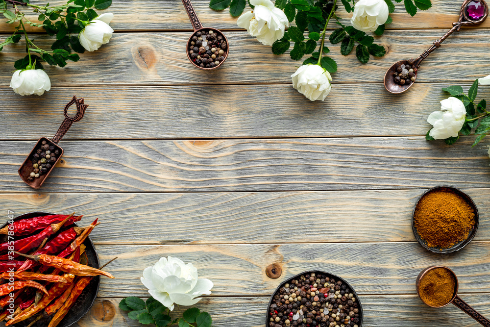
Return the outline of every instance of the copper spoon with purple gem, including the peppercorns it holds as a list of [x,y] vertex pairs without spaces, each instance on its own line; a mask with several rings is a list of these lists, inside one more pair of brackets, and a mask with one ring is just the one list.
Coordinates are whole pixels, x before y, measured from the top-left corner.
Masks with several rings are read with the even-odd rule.
[[[441,43],[449,37],[453,32],[459,31],[463,25],[477,25],[483,23],[489,15],[489,6],[485,0],[465,0],[461,6],[459,21],[453,23],[451,28],[444,36],[439,40],[434,41],[432,46],[425,50],[417,59],[400,60],[394,63],[386,72],[384,78],[385,88],[388,92],[393,94],[399,94],[407,91],[412,85],[414,85],[417,79],[418,68],[422,60],[427,58],[434,50],[441,47]],[[412,68],[415,72],[413,76],[403,74],[403,65],[415,66]],[[409,79],[407,79],[407,77]],[[395,80],[396,78],[396,80]]]

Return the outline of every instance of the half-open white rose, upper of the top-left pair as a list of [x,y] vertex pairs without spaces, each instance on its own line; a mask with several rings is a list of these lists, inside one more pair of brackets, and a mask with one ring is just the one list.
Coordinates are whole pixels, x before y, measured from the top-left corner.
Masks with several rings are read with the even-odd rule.
[[78,34],[82,47],[87,51],[95,51],[103,44],[109,43],[114,32],[109,23],[113,19],[112,13],[105,13],[90,21]]

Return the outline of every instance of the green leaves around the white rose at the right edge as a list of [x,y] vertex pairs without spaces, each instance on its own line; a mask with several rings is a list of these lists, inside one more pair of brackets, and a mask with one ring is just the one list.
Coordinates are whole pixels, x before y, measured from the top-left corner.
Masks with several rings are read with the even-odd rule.
[[[466,116],[464,123],[462,124],[458,135],[451,136],[444,139],[444,142],[448,145],[454,144],[461,135],[470,135],[474,132],[476,139],[472,147],[476,146],[480,141],[490,133],[490,111],[487,110],[487,101],[482,99],[477,101],[478,84],[481,80],[476,80],[468,90],[466,94],[463,87],[459,85],[445,87],[442,90],[449,93],[452,98],[460,100],[466,110]],[[435,138],[430,136],[430,131],[426,135],[427,140],[434,140]]]

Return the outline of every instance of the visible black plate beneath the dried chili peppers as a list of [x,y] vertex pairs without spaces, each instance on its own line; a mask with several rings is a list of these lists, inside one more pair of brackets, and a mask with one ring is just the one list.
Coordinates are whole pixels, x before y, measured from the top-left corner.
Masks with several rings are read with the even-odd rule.
[[[39,216],[46,216],[46,215],[54,215],[53,213],[48,213],[48,212],[31,212],[31,213],[26,213],[24,215],[20,215],[14,220],[19,220],[19,219],[28,219],[28,218],[33,218],[33,217],[39,217]],[[8,222],[3,224],[0,228],[3,228],[7,226]],[[72,226],[77,226],[76,224],[73,224]],[[64,227],[65,228],[65,227]],[[27,237],[30,235],[25,235],[24,237]],[[0,236],[0,242],[3,243],[6,241],[6,235],[1,235]],[[98,261],[98,255],[97,252],[95,251],[94,243],[90,240],[90,237],[87,237],[85,242],[83,242],[85,245],[85,253],[87,254],[88,257],[88,265],[94,268],[99,268],[100,263]],[[70,308],[70,311],[68,311],[68,314],[63,318],[63,320],[58,324],[57,327],[68,327],[72,326],[76,322],[78,322],[90,309],[90,307],[94,304],[95,299],[97,298],[97,293],[98,293],[98,287],[100,285],[100,276],[95,276],[92,278],[92,281],[90,284],[85,288],[83,293],[78,297],[76,302],[73,304],[73,306]],[[39,321],[37,321],[33,327],[46,327],[49,325],[49,321],[51,320],[53,315],[43,317]],[[26,319],[25,321],[21,321],[20,323],[11,325],[13,327],[26,327],[29,325],[30,322],[32,322],[37,315],[34,317],[31,317],[29,319]],[[0,326],[5,326],[3,322],[0,322]]]

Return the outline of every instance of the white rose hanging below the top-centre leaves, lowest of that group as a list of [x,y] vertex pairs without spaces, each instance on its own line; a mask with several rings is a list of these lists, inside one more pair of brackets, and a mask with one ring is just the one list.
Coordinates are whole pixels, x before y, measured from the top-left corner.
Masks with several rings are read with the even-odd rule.
[[311,101],[324,101],[332,89],[332,76],[319,65],[303,65],[291,77],[293,87]]

